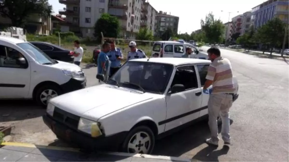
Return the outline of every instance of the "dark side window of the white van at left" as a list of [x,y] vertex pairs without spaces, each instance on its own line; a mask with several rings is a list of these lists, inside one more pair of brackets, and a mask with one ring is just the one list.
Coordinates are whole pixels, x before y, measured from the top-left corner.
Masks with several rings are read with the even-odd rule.
[[0,45],[0,67],[26,68],[19,63],[20,58],[25,59],[17,50]]

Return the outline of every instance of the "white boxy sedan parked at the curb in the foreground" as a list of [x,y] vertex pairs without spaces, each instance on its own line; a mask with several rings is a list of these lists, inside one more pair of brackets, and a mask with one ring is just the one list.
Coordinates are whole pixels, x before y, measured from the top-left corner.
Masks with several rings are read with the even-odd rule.
[[[105,84],[51,99],[43,120],[59,139],[81,148],[149,154],[156,139],[207,117],[209,95],[202,86],[210,63],[130,60]],[[236,78],[234,85],[235,101]]]

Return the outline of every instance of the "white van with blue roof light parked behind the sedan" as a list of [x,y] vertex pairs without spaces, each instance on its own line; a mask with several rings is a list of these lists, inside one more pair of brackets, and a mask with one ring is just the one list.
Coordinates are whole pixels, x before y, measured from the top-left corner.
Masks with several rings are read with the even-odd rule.
[[192,48],[192,58],[209,59],[208,54],[200,52],[194,45],[178,41],[158,41],[153,44],[152,54],[160,57],[181,57],[186,47]]

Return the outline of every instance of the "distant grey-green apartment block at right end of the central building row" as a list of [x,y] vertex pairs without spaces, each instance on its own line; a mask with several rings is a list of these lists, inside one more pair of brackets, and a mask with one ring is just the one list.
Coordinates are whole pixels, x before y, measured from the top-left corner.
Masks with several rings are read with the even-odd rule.
[[160,37],[168,28],[172,29],[174,33],[178,32],[179,17],[160,11],[156,15],[156,20],[157,20],[157,29],[156,29],[157,36]]

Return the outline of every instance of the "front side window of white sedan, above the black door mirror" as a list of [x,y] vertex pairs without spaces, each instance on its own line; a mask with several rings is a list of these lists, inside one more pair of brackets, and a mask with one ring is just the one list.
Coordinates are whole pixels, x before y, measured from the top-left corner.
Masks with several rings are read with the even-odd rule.
[[193,65],[178,67],[175,72],[171,88],[175,84],[182,84],[186,90],[198,88],[198,80]]

